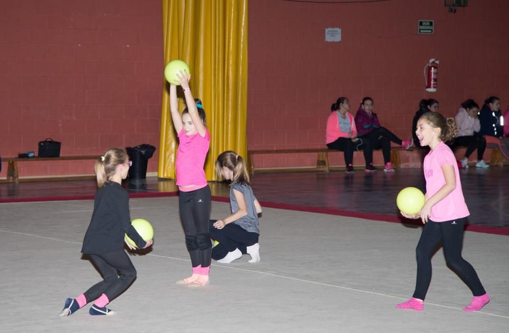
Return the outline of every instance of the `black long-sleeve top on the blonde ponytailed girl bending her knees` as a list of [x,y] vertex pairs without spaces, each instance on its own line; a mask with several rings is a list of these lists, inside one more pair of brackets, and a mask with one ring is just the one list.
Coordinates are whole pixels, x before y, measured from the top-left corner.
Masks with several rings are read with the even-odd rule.
[[107,182],[97,190],[92,220],[81,252],[100,254],[119,251],[124,247],[124,233],[138,248],[147,244],[131,225],[129,193],[119,183]]

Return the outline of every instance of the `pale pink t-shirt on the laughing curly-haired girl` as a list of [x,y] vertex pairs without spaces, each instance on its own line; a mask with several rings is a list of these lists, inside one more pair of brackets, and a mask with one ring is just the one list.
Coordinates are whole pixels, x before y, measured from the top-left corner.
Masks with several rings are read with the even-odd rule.
[[445,178],[442,171],[444,164],[452,165],[456,176],[456,188],[431,208],[430,218],[434,222],[450,221],[470,215],[461,190],[458,163],[453,151],[440,142],[424,158],[424,177],[426,178],[426,199],[435,195],[443,185]]

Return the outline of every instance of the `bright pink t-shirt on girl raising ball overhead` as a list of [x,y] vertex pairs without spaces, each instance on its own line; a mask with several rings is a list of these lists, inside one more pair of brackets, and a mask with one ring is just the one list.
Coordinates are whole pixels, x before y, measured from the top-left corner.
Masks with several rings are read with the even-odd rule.
[[210,133],[205,129],[205,136],[200,133],[186,135],[182,129],[178,135],[179,149],[175,172],[177,173],[177,185],[196,185],[194,189],[207,185],[205,171],[205,157],[209,151]]

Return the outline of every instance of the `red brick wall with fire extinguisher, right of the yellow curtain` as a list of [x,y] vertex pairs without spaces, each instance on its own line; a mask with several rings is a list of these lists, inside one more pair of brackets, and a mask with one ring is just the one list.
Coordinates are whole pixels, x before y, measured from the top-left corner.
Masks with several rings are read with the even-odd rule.
[[[456,14],[441,0],[250,1],[248,148],[324,145],[330,105],[340,96],[353,113],[371,96],[381,123],[402,138],[422,98],[438,99],[446,116],[467,98],[482,104],[489,95],[505,109],[508,12],[505,0],[471,1]],[[419,19],[434,20],[435,34],[418,35]],[[341,27],[342,42],[326,43],[326,27]],[[430,58],[441,62],[436,93],[423,87]],[[315,155],[255,158],[259,167],[312,165]]]

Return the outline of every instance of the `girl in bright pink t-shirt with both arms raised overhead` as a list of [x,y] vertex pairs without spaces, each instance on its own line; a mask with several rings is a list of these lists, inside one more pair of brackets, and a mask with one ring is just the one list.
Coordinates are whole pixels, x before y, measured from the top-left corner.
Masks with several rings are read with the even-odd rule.
[[205,127],[205,111],[199,99],[194,99],[189,88],[190,74],[180,72],[178,81],[184,91],[187,107],[179,113],[177,86],[169,87],[169,108],[173,126],[178,133],[179,149],[175,171],[179,186],[180,219],[184,228],[186,246],[191,257],[192,275],[177,281],[189,287],[209,284],[212,243],[209,234],[210,187],[203,166],[209,151],[210,134]]

